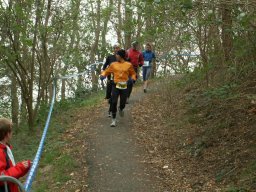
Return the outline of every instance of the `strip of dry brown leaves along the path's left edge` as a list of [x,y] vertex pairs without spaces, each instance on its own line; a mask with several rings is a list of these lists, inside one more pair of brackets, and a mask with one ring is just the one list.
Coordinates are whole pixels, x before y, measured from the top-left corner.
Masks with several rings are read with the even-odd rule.
[[[75,109],[71,115],[63,115],[63,118],[66,118],[65,120],[60,120],[60,122],[67,122],[66,126],[68,127],[68,129],[61,135],[61,140],[65,142],[65,145],[62,148],[62,155],[66,154],[73,157],[76,168],[68,173],[71,179],[65,184],[60,182],[49,183],[49,185],[51,185],[49,188],[52,189],[52,191],[87,191],[88,168],[86,162],[86,151],[88,145],[86,143],[86,137],[89,127],[96,121],[96,114],[98,113],[98,110],[98,107],[94,110],[88,110],[85,108]],[[49,170],[47,170],[47,172],[49,174]],[[67,173],[63,172],[63,174]]]

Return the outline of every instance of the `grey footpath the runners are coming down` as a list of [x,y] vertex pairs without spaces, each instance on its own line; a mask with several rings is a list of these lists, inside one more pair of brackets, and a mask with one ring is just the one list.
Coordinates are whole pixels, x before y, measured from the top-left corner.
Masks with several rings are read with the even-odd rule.
[[136,145],[132,133],[130,110],[145,94],[134,90],[125,108],[125,116],[117,115],[117,126],[110,127],[107,105],[99,112],[88,130],[88,191],[89,192],[156,192],[157,178],[143,163],[143,150]]

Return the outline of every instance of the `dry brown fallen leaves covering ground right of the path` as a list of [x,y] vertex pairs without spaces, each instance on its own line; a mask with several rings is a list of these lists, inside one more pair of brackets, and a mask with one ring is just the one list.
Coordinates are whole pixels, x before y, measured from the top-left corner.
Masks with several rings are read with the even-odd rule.
[[[216,135],[206,134],[215,122],[205,119],[203,124],[190,123],[186,93],[169,90],[167,85],[155,86],[158,87],[156,92],[134,108],[133,130],[139,144],[147,151],[145,163],[154,168],[162,180],[162,188],[187,192],[221,191],[231,182],[238,184],[237,178],[231,176],[242,169],[245,155],[253,153],[254,149],[245,152],[246,132],[251,129],[242,126],[235,131],[224,129],[212,133]],[[229,116],[228,112],[216,113],[225,118]],[[202,118],[205,114],[197,115]],[[239,119],[244,117],[246,114]],[[250,154],[251,159],[253,156]],[[218,177],[221,177],[219,182]]]

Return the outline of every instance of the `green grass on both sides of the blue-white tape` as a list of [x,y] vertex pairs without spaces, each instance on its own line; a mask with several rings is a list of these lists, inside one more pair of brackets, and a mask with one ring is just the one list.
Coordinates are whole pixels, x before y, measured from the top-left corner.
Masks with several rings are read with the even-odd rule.
[[[50,181],[54,185],[62,185],[70,180],[70,173],[77,168],[77,162],[74,158],[65,153],[65,141],[61,138],[62,134],[72,125],[70,116],[77,108],[89,110],[98,105],[104,98],[104,92],[91,93],[86,98],[68,99],[64,102],[58,102],[54,106],[53,116],[47,133],[44,151],[39,163],[39,170],[33,183],[33,191],[43,192],[49,191]],[[48,111],[40,118],[47,116]],[[11,141],[13,145],[13,153],[16,162],[25,159],[34,159],[37,152],[39,142],[44,125],[37,126],[35,133],[30,133],[26,127],[20,128],[20,132],[13,136]],[[50,166],[50,170],[42,171],[45,167]],[[21,181],[24,181],[23,178]]]

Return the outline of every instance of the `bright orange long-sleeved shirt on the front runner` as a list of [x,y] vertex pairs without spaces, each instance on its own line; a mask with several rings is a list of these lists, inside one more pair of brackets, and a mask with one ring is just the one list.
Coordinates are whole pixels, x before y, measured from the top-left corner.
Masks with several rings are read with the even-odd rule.
[[133,69],[131,63],[124,61],[124,62],[113,62],[111,65],[101,73],[102,76],[108,76],[111,73],[114,74],[114,82],[126,82],[128,81],[129,77],[133,80],[136,80],[136,72]]

